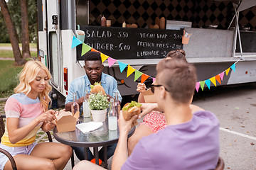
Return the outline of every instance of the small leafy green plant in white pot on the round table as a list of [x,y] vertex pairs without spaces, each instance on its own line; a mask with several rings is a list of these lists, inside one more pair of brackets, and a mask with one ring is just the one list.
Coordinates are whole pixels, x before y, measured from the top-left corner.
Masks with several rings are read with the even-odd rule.
[[104,122],[107,115],[107,108],[110,105],[110,102],[107,101],[107,95],[102,93],[90,94],[88,102],[93,121]]

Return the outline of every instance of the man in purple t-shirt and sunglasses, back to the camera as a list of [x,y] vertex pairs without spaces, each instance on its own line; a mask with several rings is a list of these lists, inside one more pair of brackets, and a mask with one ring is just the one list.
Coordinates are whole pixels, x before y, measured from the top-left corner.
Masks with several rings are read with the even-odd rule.
[[[196,86],[196,68],[178,59],[164,59],[156,66],[151,91],[157,103],[142,103],[142,114],[164,111],[167,126],[143,137],[127,155],[127,135],[132,122],[119,114],[119,140],[112,170],[119,169],[215,169],[220,152],[219,121],[213,113],[198,106],[191,108]],[[194,112],[193,112],[194,110]],[[82,161],[73,170],[103,169]]]

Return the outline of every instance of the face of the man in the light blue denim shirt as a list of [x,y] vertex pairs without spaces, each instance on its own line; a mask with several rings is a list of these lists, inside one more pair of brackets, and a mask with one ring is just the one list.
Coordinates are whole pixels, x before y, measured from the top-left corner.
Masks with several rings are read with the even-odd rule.
[[100,82],[102,71],[103,65],[99,60],[88,60],[85,62],[85,72],[91,84]]

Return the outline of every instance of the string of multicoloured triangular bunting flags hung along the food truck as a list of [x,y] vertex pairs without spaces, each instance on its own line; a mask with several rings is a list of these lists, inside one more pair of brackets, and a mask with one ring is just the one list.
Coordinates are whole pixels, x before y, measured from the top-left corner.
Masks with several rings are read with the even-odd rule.
[[[76,47],[78,45],[82,44],[82,52],[81,52],[81,56],[85,55],[86,52],[88,51],[95,51],[95,52],[100,52],[98,50],[95,50],[93,47],[90,47],[89,45],[85,44],[84,42],[82,42],[81,40],[79,40],[78,38],[76,38],[75,36],[73,36],[73,40],[72,40],[72,45],[71,48]],[[119,64],[119,69],[120,72],[122,73],[124,71],[124,69],[127,67],[127,77],[129,77],[132,73],[134,73],[134,81],[137,81],[137,79],[139,79],[139,77],[141,77],[141,83],[144,83],[144,81],[146,81],[146,79],[151,78],[153,80],[153,82],[156,80],[156,78],[151,77],[147,74],[144,74],[142,72],[139,72],[139,70],[134,69],[132,66],[130,66],[129,64],[120,62],[118,60],[115,60],[114,58],[103,54],[102,52],[100,52],[100,57],[102,59],[102,62],[105,62],[105,60],[107,60],[109,67],[112,67],[112,65],[116,62],[118,62]],[[235,72],[235,65],[242,59],[242,57],[240,57],[234,64],[232,64],[230,67],[228,67],[228,69],[225,69],[223,72],[221,72],[218,75],[215,75],[214,77],[210,77],[209,79],[203,80],[203,81],[198,81],[196,82],[196,91],[198,92],[198,90],[204,89],[205,85],[208,87],[208,89],[210,89],[210,84],[212,83],[214,86],[217,86],[217,82],[219,84],[221,84],[221,81],[223,81],[223,77],[224,74],[226,74],[226,76],[228,76],[228,74],[230,73],[230,69],[233,70]]]

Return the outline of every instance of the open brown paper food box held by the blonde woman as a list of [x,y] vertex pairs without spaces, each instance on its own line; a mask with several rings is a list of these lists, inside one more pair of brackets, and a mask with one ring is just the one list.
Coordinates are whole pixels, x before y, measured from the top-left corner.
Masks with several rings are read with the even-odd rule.
[[79,118],[79,111],[73,115],[70,111],[60,110],[56,116],[56,127],[58,132],[70,132],[75,130],[76,122]]

